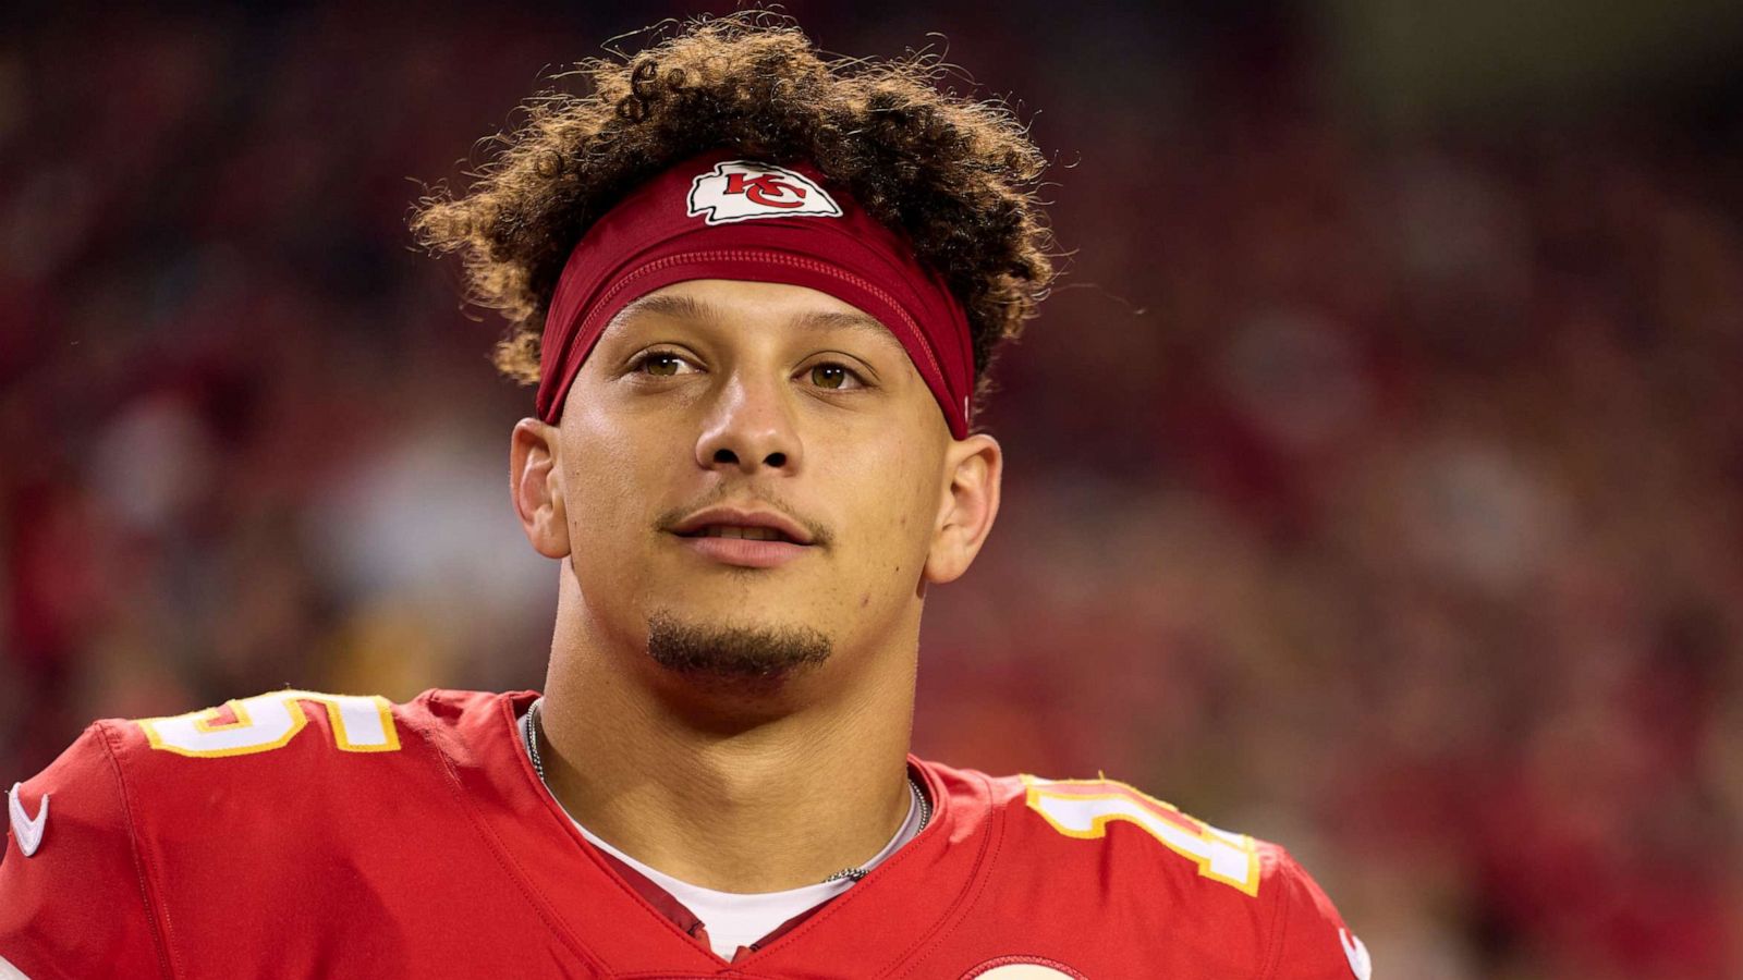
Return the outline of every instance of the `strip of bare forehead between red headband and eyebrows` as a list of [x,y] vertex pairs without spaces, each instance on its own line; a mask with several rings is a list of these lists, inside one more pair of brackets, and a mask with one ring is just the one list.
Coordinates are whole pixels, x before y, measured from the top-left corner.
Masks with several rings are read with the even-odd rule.
[[673,282],[619,310],[607,333],[659,319],[720,328],[779,328],[790,333],[849,331],[863,342],[887,347],[906,357],[896,335],[872,314],[819,289],[786,282],[743,279]]

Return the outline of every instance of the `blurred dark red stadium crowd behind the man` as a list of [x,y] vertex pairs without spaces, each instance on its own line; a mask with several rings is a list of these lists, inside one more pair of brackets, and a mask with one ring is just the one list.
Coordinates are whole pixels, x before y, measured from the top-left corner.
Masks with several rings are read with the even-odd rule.
[[[1281,839],[1387,978],[1743,975],[1743,9],[847,7],[790,10],[1021,98],[1070,251],[919,750]],[[530,392],[403,221],[695,10],[12,9],[0,783],[94,717],[539,684]]]

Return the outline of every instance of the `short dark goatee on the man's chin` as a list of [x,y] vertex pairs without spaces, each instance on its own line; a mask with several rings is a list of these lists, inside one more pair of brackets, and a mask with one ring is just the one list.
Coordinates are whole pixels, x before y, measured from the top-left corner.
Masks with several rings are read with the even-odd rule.
[[762,687],[830,659],[830,636],[810,626],[685,623],[661,610],[648,617],[648,656],[690,680]]

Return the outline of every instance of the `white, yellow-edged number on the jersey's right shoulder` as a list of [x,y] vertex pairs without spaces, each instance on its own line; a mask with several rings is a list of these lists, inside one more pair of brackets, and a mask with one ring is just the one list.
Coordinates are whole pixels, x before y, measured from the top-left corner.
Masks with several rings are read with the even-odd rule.
[[1258,895],[1258,851],[1245,834],[1229,834],[1192,820],[1178,809],[1114,779],[1037,779],[1028,785],[1028,807],[1067,837],[1105,837],[1107,825],[1124,820],[1156,837],[1177,854],[1192,858],[1199,874]]

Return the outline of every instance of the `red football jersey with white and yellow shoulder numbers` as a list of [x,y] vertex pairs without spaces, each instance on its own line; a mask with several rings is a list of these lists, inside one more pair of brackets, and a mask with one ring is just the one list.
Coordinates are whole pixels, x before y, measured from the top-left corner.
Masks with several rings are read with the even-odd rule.
[[926,830],[729,963],[546,792],[533,698],[277,691],[92,724],[9,800],[0,977],[1367,978],[1281,847],[1122,783],[912,757]]

